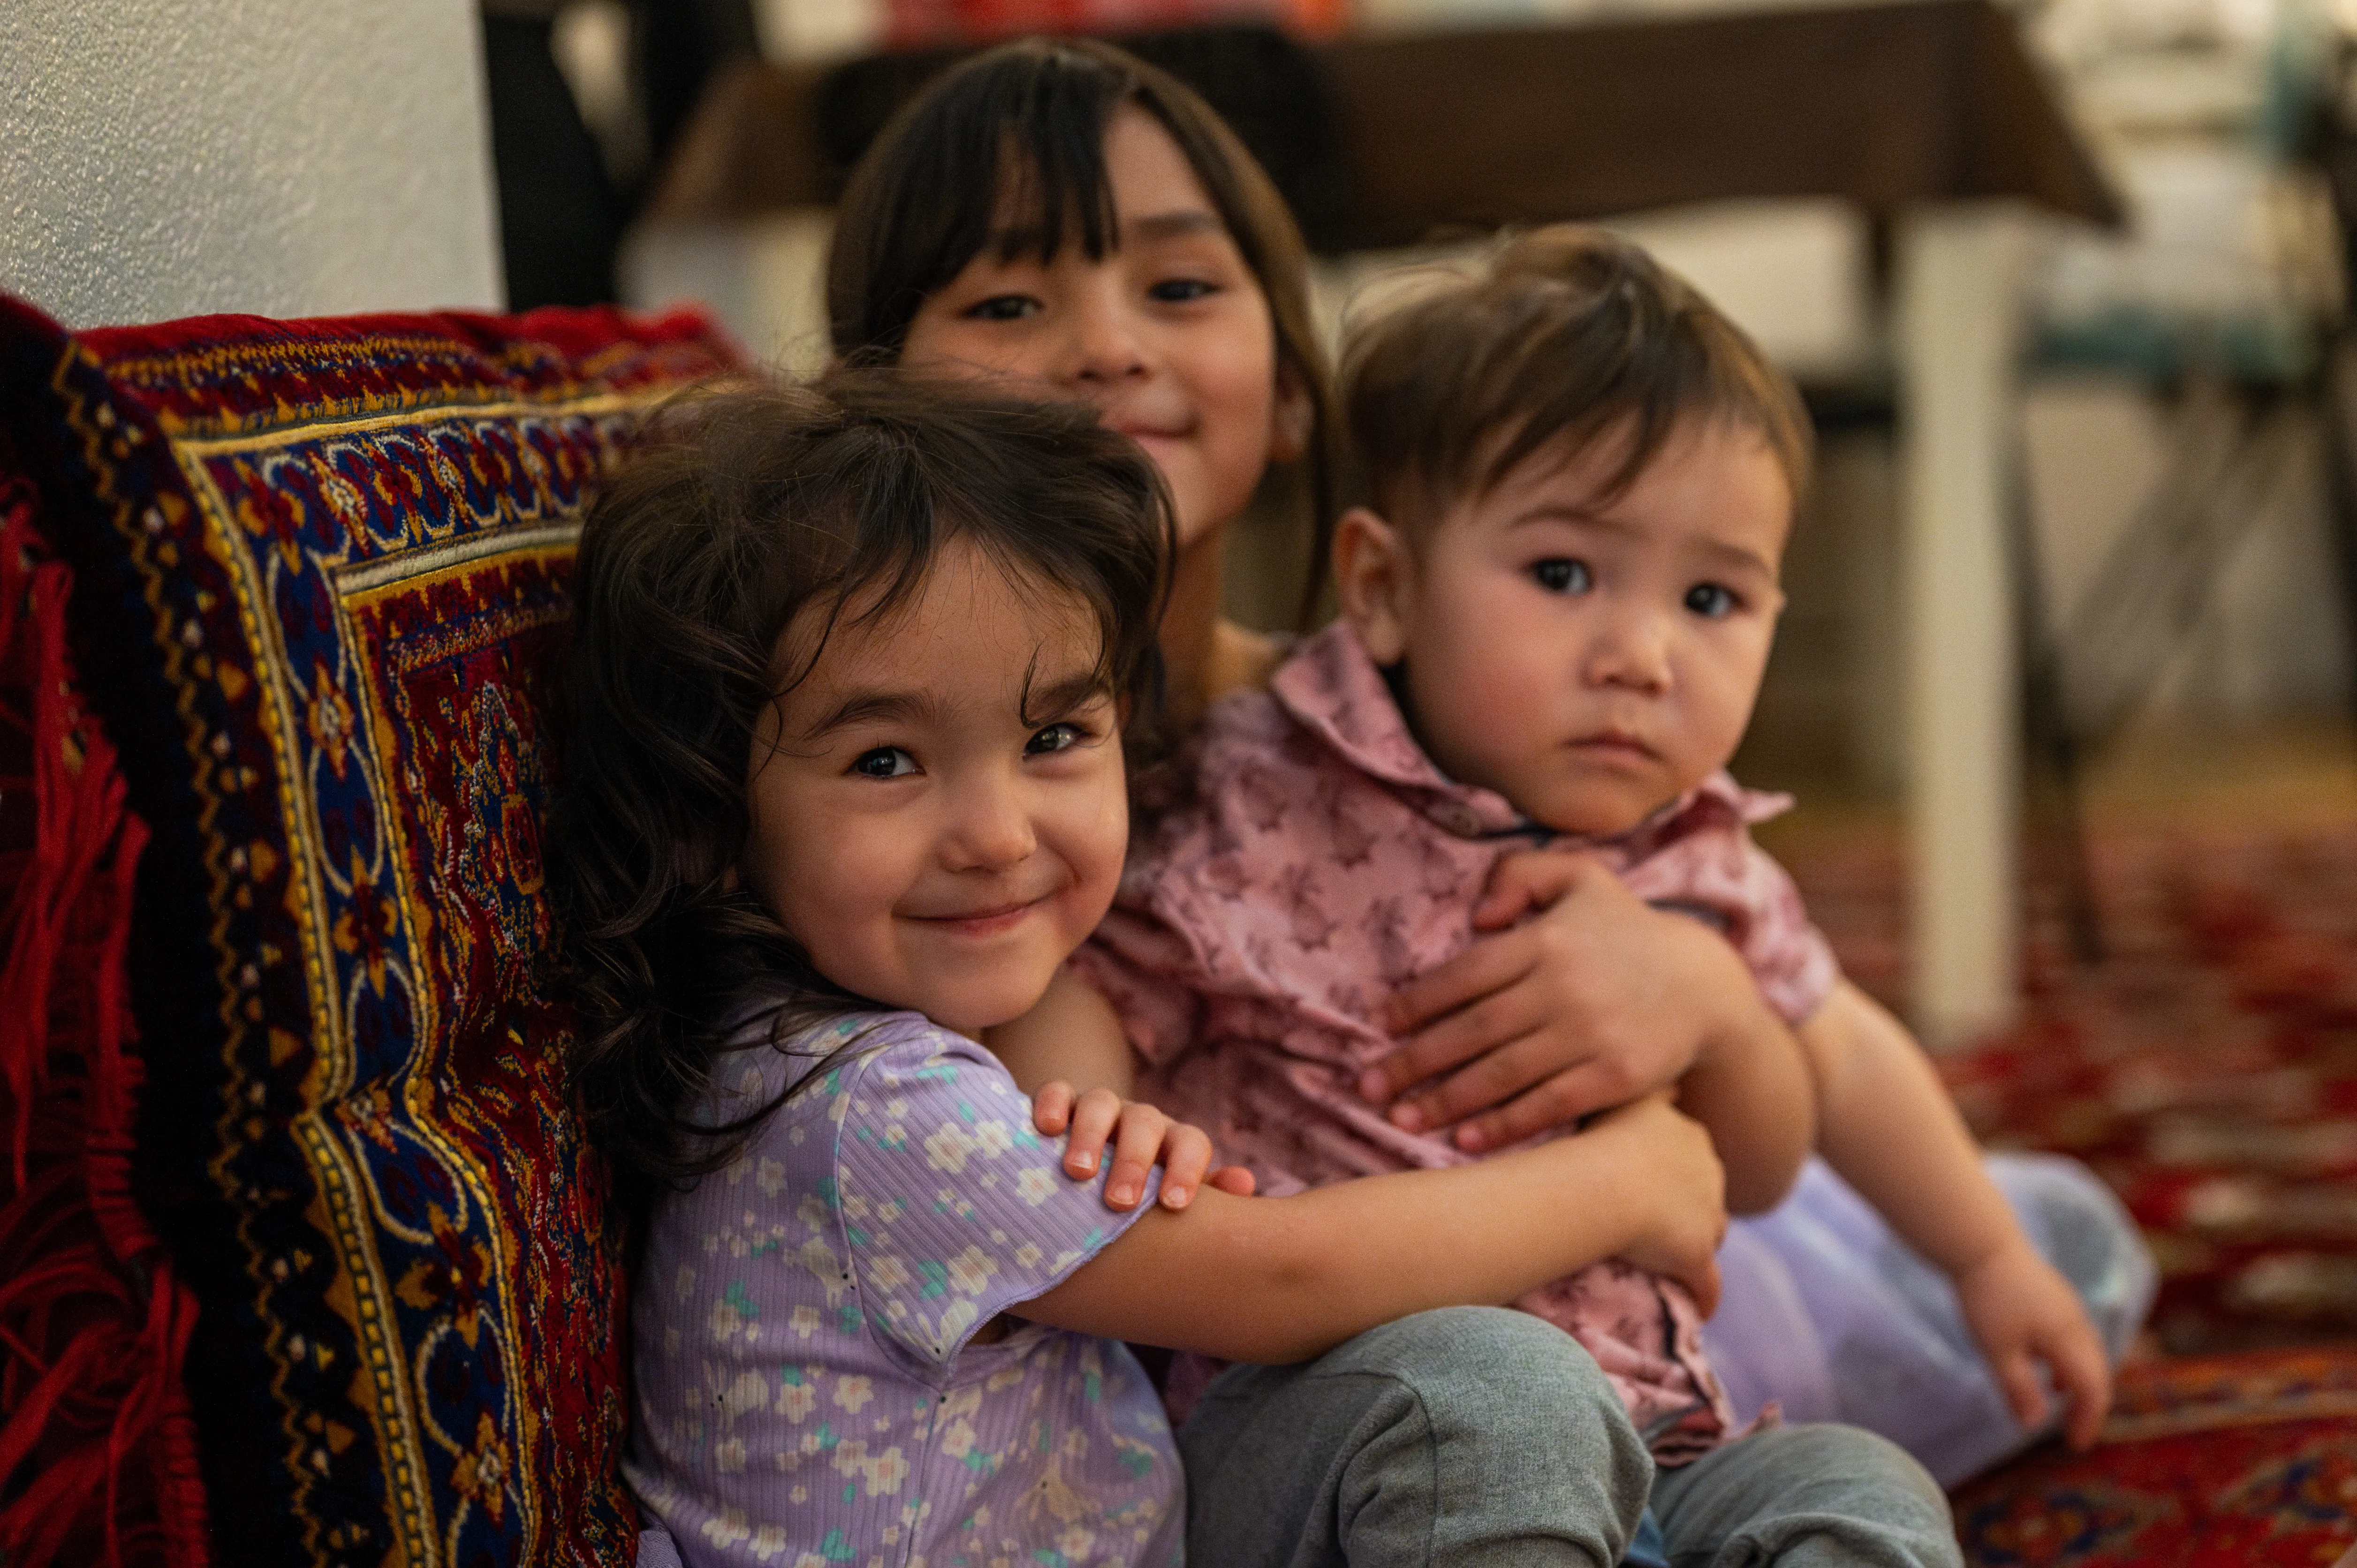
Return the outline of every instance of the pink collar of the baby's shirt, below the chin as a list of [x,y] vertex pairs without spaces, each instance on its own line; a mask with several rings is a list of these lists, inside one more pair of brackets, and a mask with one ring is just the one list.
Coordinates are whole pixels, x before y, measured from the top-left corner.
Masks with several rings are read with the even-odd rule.
[[1407,729],[1407,714],[1391,696],[1358,632],[1336,620],[1310,637],[1277,667],[1270,696],[1303,729],[1327,743],[1346,764],[1402,795],[1442,830],[1461,837],[1527,835],[1560,849],[1617,849],[1643,858],[1706,823],[1758,823],[1791,806],[1789,795],[1744,790],[1725,771],[1664,804],[1636,828],[1612,837],[1558,835],[1532,823],[1497,790],[1461,785],[1442,773]]

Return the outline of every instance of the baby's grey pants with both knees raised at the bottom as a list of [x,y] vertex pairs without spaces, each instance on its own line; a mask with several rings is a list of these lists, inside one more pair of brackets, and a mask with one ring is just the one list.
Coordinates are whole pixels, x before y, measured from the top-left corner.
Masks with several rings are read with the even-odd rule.
[[1292,1368],[1228,1368],[1178,1434],[1200,1568],[1612,1568],[1652,1497],[1678,1568],[1954,1568],[1890,1443],[1772,1431],[1664,1471],[1579,1344],[1452,1306]]

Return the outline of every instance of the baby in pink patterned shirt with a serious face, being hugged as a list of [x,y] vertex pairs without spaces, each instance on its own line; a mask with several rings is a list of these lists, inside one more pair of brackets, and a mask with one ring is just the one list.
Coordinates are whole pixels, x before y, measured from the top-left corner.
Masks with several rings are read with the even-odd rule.
[[[1398,1045],[1393,993],[1600,858],[1638,898],[1718,927],[1791,1026],[1704,1047],[1673,1085],[1714,1134],[1730,1210],[1770,1207],[1815,1144],[1952,1278],[2015,1415],[2039,1417],[2041,1363],[2072,1441],[2091,1441],[2110,1375],[2086,1311],[1921,1049],[1841,981],[1749,842],[1777,804],[1723,773],[1808,476],[1791,384],[1643,252],[1549,229],[1362,332],[1346,401],[1372,507],[1336,528],[1341,625],[1270,691],[1214,707],[1075,955],[1148,1068],[1143,1094],[1270,1193],[1473,1158],[1358,1092]],[[1527,849],[1579,854],[1511,854]],[[1075,1040],[992,1045],[1018,1080],[1127,1082]],[[1657,1460],[1725,1438],[1709,1302],[1605,1261],[1518,1306],[1598,1358]]]

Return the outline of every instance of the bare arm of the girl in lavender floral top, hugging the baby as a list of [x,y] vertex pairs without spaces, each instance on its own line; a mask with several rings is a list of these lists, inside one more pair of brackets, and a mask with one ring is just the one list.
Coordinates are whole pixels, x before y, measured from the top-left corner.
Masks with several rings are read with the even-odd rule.
[[1150,1212],[1014,1309],[1087,1335],[1287,1363],[1433,1306],[1487,1306],[1607,1257],[1678,1278],[1709,1311],[1725,1231],[1709,1134],[1662,1096],[1478,1165],[1296,1198],[1204,1191]]

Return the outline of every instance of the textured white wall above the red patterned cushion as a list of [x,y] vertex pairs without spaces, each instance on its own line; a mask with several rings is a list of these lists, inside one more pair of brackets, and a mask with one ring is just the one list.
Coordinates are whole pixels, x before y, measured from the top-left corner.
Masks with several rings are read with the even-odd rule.
[[0,288],[73,328],[497,309],[471,0],[0,0]]

